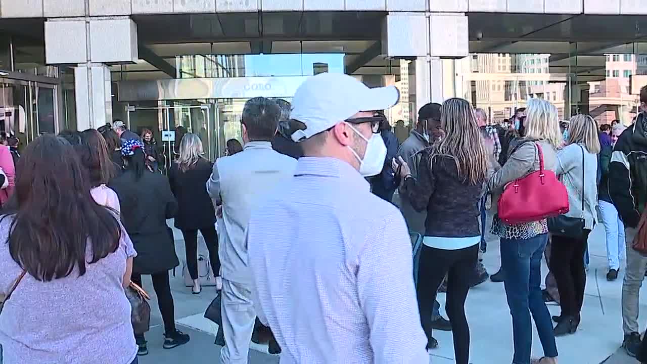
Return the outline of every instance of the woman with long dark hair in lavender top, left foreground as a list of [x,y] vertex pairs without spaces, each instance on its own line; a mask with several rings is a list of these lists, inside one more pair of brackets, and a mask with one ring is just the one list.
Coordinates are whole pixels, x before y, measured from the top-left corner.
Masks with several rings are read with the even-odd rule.
[[1,293],[17,282],[0,315],[5,363],[135,363],[124,295],[133,243],[93,201],[65,139],[39,136],[19,168],[12,209],[0,218]]

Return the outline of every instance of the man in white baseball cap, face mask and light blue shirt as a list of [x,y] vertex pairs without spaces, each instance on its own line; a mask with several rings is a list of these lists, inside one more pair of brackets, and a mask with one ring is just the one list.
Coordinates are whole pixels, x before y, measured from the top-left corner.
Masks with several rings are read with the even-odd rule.
[[386,155],[375,111],[398,98],[330,73],[292,98],[304,156],[247,228],[256,310],[281,363],[429,362],[406,224],[364,179]]

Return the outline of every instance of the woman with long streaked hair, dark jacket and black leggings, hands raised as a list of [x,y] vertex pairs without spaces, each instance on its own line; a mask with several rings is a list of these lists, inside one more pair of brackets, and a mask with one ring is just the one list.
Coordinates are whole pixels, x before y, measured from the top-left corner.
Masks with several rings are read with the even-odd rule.
[[454,332],[456,363],[467,364],[470,329],[465,300],[481,242],[478,204],[488,171],[488,152],[474,109],[466,100],[450,98],[443,103],[440,128],[443,136],[424,150],[417,177],[411,176],[402,157],[393,169],[400,168],[411,206],[427,212],[417,295],[428,347],[434,344],[433,302],[448,275],[446,312]]

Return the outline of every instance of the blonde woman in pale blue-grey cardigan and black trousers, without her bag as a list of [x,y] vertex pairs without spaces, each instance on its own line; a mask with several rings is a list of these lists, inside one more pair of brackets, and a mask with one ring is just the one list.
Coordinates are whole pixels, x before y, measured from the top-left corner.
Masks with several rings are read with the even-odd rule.
[[555,336],[574,334],[580,324],[584,301],[586,271],[584,253],[593,226],[597,223],[597,169],[600,153],[597,125],[589,115],[578,114],[569,123],[566,146],[557,153],[556,172],[566,186],[569,218],[583,219],[584,228],[574,234],[563,234],[559,226],[551,227],[551,272],[560,293],[562,314],[557,321]]

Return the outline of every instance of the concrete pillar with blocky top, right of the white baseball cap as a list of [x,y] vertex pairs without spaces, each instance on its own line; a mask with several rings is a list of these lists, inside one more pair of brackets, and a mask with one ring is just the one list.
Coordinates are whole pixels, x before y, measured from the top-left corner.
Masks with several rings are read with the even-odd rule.
[[409,102],[417,110],[457,95],[454,60],[468,56],[465,14],[389,12],[382,27],[382,53],[413,58],[408,67]]

